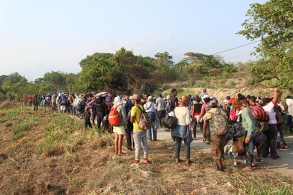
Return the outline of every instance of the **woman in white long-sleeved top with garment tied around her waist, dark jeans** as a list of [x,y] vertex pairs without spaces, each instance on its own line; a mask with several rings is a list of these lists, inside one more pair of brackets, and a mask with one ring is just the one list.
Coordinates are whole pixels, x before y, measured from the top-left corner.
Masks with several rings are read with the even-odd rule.
[[184,141],[185,153],[186,153],[186,164],[190,165],[190,144],[193,141],[191,131],[188,129],[188,125],[191,125],[191,115],[187,106],[189,105],[189,97],[182,96],[179,98],[179,106],[175,107],[174,112],[177,118],[177,126],[172,132],[172,137],[176,139],[176,164],[179,163],[180,159],[180,148],[181,142]]

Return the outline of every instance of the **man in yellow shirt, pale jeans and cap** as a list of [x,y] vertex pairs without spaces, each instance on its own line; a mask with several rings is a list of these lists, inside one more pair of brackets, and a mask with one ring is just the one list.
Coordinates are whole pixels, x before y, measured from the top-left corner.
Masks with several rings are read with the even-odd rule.
[[149,147],[147,145],[146,130],[139,128],[139,118],[142,115],[144,107],[140,102],[140,96],[138,94],[132,95],[132,104],[134,105],[131,110],[130,122],[133,124],[133,139],[135,147],[135,162],[131,166],[138,166],[140,159],[141,145],[144,148],[144,159],[142,162],[148,162]]

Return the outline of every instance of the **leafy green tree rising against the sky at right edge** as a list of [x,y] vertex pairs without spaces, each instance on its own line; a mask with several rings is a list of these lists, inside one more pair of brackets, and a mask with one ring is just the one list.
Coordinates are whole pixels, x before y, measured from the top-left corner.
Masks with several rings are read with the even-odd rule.
[[250,68],[255,82],[277,78],[279,87],[293,85],[293,4],[292,0],[271,0],[265,4],[252,4],[240,35],[247,39],[260,38],[255,54],[261,61]]

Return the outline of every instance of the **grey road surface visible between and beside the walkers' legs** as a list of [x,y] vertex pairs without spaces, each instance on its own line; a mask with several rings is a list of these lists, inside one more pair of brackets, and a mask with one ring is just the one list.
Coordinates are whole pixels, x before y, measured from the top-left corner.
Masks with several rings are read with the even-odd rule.
[[[202,132],[196,134],[197,140],[194,140],[191,143],[191,147],[196,147],[202,149],[204,152],[210,152],[210,145],[203,143],[201,140],[203,137]],[[157,134],[158,140],[171,140],[170,132],[164,131],[164,129],[159,129]],[[287,144],[289,145],[288,149],[280,149],[278,155],[279,159],[271,159],[270,157],[262,158],[262,162],[257,164],[257,167],[260,169],[268,169],[272,172],[277,172],[283,174],[284,176],[293,177],[293,136],[284,137]],[[256,151],[255,151],[256,155]],[[231,164],[231,166],[233,166]]]

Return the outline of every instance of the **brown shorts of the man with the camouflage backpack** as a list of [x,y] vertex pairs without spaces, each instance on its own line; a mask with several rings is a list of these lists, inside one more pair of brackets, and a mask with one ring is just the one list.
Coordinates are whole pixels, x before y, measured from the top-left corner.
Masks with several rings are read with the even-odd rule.
[[224,157],[225,135],[211,135],[211,154],[214,160]]

